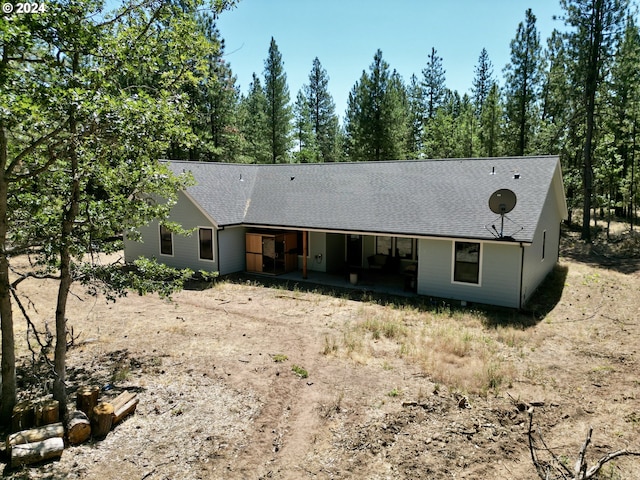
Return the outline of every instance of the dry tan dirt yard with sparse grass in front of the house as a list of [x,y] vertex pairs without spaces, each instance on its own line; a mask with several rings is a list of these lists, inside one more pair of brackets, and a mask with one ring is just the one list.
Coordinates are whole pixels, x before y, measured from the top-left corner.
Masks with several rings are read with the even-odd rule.
[[[57,284],[19,291],[53,329]],[[640,451],[640,262],[565,239],[553,279],[524,313],[430,299],[391,302],[256,277],[183,291],[70,301],[70,401],[138,393],[134,415],[14,479],[534,479],[529,415],[569,469]],[[32,374],[16,313],[21,391]],[[32,339],[33,340],[33,339]],[[294,369],[296,371],[294,371]],[[304,377],[304,371],[308,374]],[[551,477],[553,478],[553,477]],[[640,478],[640,458],[600,478]]]

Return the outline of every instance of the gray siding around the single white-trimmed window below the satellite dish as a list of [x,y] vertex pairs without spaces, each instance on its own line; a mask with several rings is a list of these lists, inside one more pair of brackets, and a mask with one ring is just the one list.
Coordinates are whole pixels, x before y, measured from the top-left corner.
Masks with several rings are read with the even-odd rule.
[[482,244],[480,285],[452,281],[452,240],[418,242],[418,293],[505,307],[519,307],[520,245]]

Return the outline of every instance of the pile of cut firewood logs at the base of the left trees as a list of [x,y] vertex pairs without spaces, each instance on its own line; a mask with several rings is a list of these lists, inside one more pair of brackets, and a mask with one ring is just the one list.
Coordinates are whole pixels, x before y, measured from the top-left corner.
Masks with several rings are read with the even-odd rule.
[[98,403],[100,389],[81,387],[76,409],[59,419],[56,400],[41,399],[18,403],[13,409],[12,431],[5,440],[12,468],[60,458],[65,445],[79,445],[90,438],[104,438],[118,423],[135,412],[139,399],[125,391]]

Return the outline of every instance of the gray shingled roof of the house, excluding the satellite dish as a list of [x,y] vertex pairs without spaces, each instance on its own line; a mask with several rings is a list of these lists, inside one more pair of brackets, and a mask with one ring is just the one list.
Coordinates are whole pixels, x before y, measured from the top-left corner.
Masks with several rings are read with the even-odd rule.
[[[240,165],[168,162],[191,171],[191,199],[218,226],[253,225],[336,232],[493,239],[485,225],[498,189],[518,202],[505,223],[531,242],[554,178],[557,156],[358,163]],[[557,208],[566,216],[562,188]],[[499,218],[498,218],[499,221]]]

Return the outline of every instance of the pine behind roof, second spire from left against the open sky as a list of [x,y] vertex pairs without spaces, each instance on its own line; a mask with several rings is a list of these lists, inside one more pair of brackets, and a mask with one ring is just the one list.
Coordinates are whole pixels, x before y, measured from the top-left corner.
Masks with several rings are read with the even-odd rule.
[[318,146],[319,162],[335,162],[337,151],[338,117],[335,104],[329,92],[329,76],[322,68],[320,60],[313,60],[309,74],[309,85],[306,87],[306,101],[315,143]]

